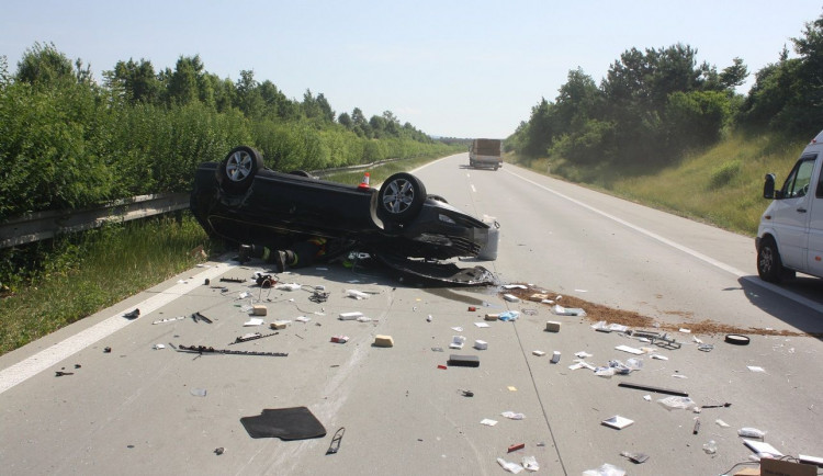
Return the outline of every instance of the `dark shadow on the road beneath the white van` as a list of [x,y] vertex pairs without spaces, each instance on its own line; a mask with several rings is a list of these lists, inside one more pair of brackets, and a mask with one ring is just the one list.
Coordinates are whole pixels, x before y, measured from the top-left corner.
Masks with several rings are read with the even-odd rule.
[[823,313],[819,310],[823,309],[823,280],[799,276],[777,287],[758,276],[743,276],[737,282],[753,305],[801,332],[823,339]]

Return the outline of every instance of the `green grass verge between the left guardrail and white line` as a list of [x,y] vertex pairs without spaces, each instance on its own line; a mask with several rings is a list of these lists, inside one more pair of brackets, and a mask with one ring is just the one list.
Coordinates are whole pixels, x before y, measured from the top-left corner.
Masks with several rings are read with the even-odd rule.
[[208,238],[188,213],[52,240],[31,281],[0,298],[0,354],[204,261]]

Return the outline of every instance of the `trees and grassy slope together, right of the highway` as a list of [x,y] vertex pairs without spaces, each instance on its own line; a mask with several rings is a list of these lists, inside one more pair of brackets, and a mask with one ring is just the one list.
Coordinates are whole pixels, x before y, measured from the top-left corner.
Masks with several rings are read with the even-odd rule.
[[823,128],[823,15],[791,43],[747,95],[743,59],[718,70],[683,44],[625,50],[599,86],[572,70],[506,139],[508,160],[754,235],[764,174],[783,179]]

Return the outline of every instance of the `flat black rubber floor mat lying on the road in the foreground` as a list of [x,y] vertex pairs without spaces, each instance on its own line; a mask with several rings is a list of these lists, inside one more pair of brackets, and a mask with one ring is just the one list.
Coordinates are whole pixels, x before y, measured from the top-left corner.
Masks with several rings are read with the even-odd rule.
[[326,429],[306,407],[266,409],[256,417],[240,418],[251,438],[306,440],[323,438]]

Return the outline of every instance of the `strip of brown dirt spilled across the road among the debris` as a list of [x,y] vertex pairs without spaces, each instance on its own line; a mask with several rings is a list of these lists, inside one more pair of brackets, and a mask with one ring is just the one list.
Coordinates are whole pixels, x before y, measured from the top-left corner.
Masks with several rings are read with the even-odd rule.
[[[631,310],[616,309],[613,307],[602,306],[588,301],[580,299],[579,297],[570,296],[563,294],[557,301],[557,293],[552,291],[541,290],[533,285],[521,284],[525,288],[516,287],[510,290],[504,290],[503,294],[511,294],[519,297],[523,302],[532,302],[535,305],[553,307],[554,304],[541,303],[544,298],[556,302],[563,307],[567,308],[582,308],[586,311],[585,319],[591,322],[599,322],[605,320],[608,324],[621,324],[634,329],[654,329],[655,331],[678,331],[681,328],[689,329],[691,333],[696,335],[725,335],[725,333],[746,333],[755,336],[805,336],[805,337],[823,337],[823,333],[809,333],[798,332],[790,330],[775,330],[775,329],[763,329],[763,328],[742,328],[736,326],[729,326],[725,324],[715,322],[711,319],[706,319],[699,322],[661,322],[649,316],[643,316],[639,313]],[[666,313],[670,315],[685,316],[686,313]]]

